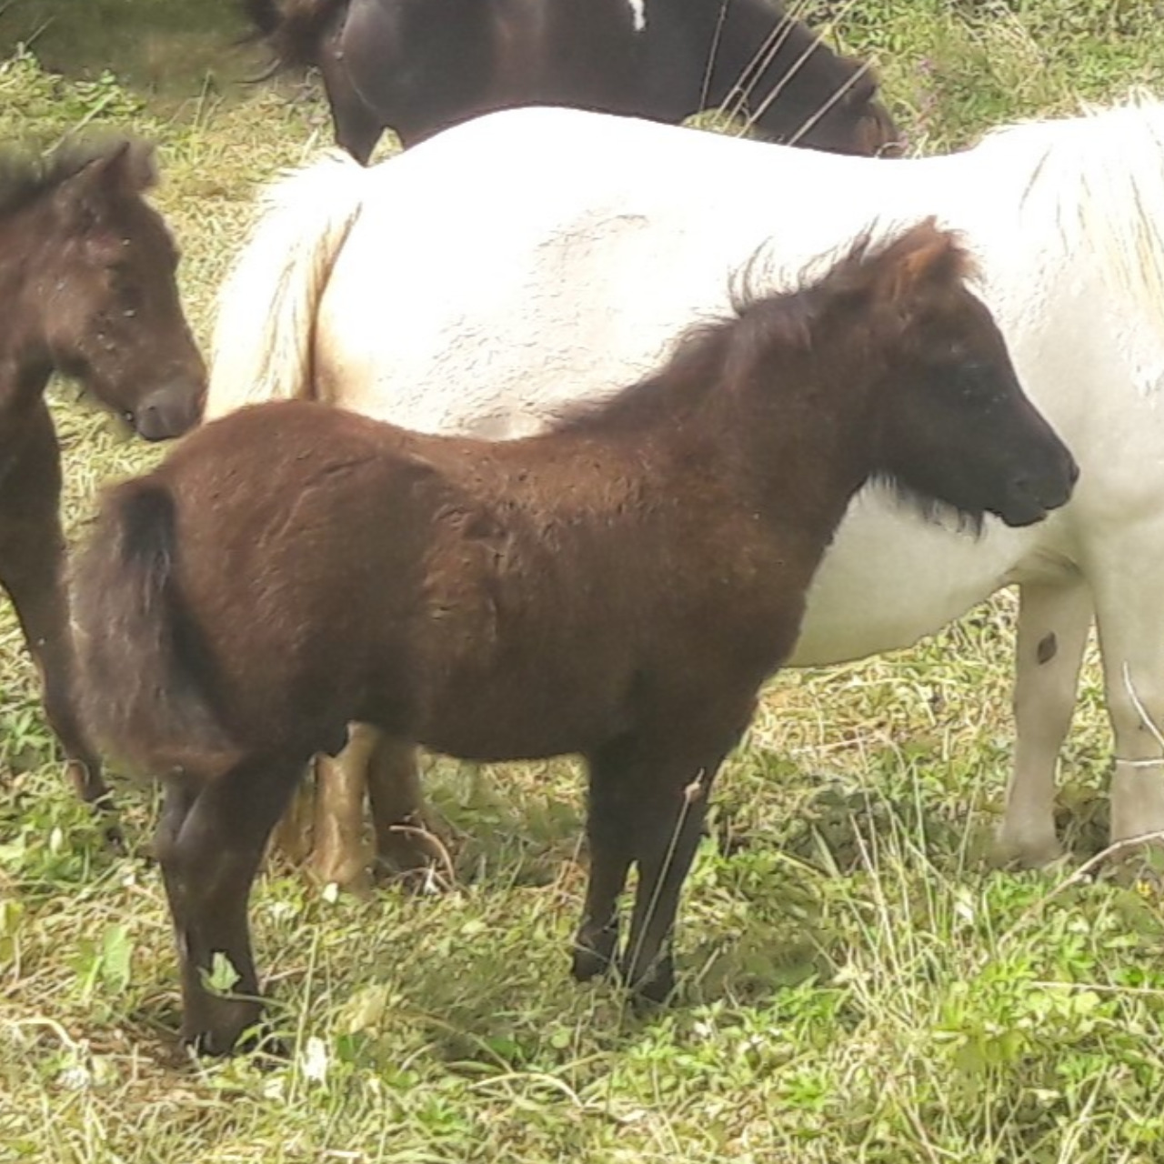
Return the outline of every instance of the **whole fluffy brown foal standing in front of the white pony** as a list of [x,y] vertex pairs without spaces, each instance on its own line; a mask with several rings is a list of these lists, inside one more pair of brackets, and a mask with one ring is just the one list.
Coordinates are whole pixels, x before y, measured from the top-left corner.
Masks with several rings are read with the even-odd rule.
[[[247,899],[308,758],[350,719],[478,760],[582,753],[591,871],[574,973],[673,987],[712,780],[788,655],[850,498],[1039,520],[1074,463],[923,223],[698,329],[653,378],[524,440],[244,409],[106,498],[76,574],[95,739],[165,782],[157,854],[184,1035],[260,1014]],[[215,954],[239,994],[207,989]]]

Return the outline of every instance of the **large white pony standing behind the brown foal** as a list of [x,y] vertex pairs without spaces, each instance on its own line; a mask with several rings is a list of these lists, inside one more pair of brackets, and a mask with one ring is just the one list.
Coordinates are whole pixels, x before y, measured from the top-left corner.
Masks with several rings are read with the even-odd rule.
[[1003,852],[1059,852],[1059,747],[1093,612],[1112,835],[1164,829],[1164,106],[991,134],[949,157],[814,154],[569,109],[463,125],[369,170],[275,186],[223,289],[207,416],[315,396],[513,436],[629,384],[723,312],[762,248],[795,282],[860,230],[963,232],[1027,391],[1081,467],[1041,525],[980,538],[870,489],[812,584],[793,665],[904,647],[1020,587]]

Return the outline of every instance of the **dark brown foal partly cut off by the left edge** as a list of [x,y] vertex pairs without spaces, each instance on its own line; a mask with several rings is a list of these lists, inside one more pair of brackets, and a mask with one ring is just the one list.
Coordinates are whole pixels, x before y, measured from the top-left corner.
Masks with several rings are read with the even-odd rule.
[[72,705],[61,453],[44,386],[77,377],[147,440],[197,424],[206,369],[170,234],[142,198],[151,150],[108,143],[47,163],[0,155],[0,583],[41,675],[78,793],[106,794]]

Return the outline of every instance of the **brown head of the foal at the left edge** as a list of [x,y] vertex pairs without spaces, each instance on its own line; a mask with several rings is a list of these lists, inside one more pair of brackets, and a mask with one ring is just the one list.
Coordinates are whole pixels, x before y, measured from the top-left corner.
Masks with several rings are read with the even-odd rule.
[[198,423],[206,367],[178,299],[173,240],[142,198],[155,180],[152,151],[136,142],[58,157],[22,200],[19,229],[35,256],[52,367],[139,435],[164,440]]

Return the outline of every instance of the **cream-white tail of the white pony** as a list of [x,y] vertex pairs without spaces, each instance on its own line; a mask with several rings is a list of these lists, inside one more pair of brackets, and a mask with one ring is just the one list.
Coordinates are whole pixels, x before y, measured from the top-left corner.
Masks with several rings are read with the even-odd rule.
[[315,312],[369,173],[334,150],[263,191],[258,221],[219,291],[204,420],[311,395]]

